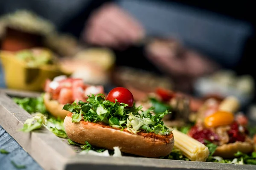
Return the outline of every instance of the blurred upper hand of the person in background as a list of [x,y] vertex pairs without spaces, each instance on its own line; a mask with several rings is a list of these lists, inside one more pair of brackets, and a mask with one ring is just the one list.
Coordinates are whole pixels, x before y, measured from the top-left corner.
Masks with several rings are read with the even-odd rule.
[[125,48],[143,36],[144,30],[140,23],[122,8],[108,3],[91,14],[83,39],[93,45]]

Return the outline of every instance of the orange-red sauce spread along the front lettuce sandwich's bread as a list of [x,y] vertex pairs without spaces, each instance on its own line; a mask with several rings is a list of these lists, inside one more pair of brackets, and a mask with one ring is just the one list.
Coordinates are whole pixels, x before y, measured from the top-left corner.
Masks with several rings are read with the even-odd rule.
[[[72,117],[72,113],[68,113],[67,116]],[[88,121],[85,122],[84,120],[81,120],[81,123],[83,123],[84,125],[92,124],[92,125],[95,125],[95,126],[101,126],[103,128],[111,128],[111,129],[120,130],[119,128],[115,128],[115,127],[111,127],[109,125],[106,125],[103,122],[93,123],[93,122],[88,122]],[[130,133],[126,128],[123,131]],[[131,133],[131,134],[133,134],[133,133]],[[165,142],[165,143],[170,143],[170,139],[173,138],[172,133],[170,133],[169,135],[158,135],[158,134],[152,133],[152,132],[150,132],[150,133],[138,132],[137,135],[143,136],[145,138],[157,139],[157,140],[159,140],[161,142]]]

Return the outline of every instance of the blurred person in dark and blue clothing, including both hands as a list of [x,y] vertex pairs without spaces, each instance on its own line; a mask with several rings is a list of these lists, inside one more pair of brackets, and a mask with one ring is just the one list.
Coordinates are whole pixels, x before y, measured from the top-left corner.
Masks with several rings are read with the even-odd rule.
[[[59,31],[114,49],[122,55],[122,65],[157,70],[184,84],[220,67],[253,74],[255,23],[250,1],[231,6],[216,0],[9,0],[0,6],[3,13],[17,8],[35,11]],[[158,45],[146,50],[144,61],[139,62],[144,51],[134,44],[154,35],[175,38],[187,49],[177,56]]]

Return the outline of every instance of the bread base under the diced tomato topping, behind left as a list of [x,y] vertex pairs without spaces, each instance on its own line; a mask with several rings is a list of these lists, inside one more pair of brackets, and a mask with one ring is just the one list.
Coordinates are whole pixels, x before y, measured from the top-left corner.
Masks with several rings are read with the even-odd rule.
[[57,100],[52,100],[49,93],[44,94],[44,105],[47,111],[53,116],[65,119],[69,111],[63,110],[64,105],[60,104]]

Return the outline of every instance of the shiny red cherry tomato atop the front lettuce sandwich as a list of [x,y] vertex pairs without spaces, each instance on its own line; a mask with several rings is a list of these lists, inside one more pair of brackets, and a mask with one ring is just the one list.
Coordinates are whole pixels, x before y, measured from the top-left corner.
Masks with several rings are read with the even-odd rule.
[[134,97],[127,88],[117,87],[113,88],[106,97],[106,100],[109,100],[111,102],[115,102],[115,99],[119,103],[125,103],[128,104],[129,107],[132,107],[134,104]]

